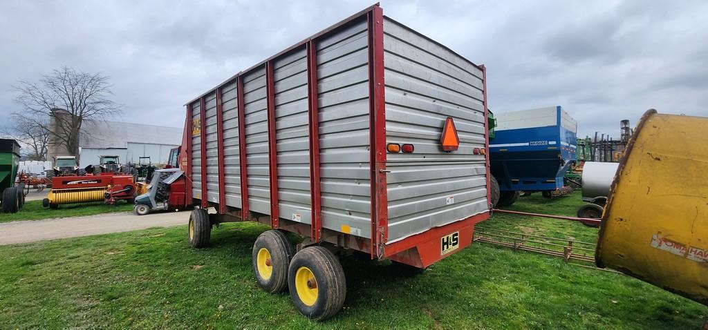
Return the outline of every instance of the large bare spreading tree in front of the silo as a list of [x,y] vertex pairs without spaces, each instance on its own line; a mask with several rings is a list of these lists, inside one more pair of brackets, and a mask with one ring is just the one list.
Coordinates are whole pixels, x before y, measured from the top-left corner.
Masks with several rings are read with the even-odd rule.
[[62,67],[42,75],[38,83],[20,81],[14,86],[15,101],[25,108],[14,112],[18,122],[30,123],[49,134],[74,155],[79,154],[79,134],[84,122],[120,114],[120,105],[110,100],[108,77]]

